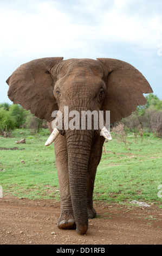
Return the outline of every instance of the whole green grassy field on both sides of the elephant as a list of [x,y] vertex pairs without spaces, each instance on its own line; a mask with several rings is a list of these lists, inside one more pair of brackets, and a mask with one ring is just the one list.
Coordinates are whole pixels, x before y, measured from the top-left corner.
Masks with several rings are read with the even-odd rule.
[[[30,199],[59,199],[59,183],[53,145],[45,147],[48,130],[32,135],[15,130],[11,138],[0,137],[0,185],[3,195]],[[25,144],[16,144],[25,138]],[[112,133],[98,167],[94,199],[112,202],[141,200],[160,205],[162,184],[162,139],[147,134],[136,141],[127,136],[127,148]],[[15,148],[19,150],[2,150]],[[162,192],[161,192],[162,195]]]

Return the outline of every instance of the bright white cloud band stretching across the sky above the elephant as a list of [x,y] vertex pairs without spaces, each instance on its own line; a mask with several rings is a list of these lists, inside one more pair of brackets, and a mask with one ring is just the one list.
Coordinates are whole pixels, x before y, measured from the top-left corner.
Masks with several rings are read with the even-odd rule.
[[[162,41],[161,16],[156,13],[152,17],[142,16],[138,12],[130,15],[128,0],[115,0],[113,5],[106,0],[81,0],[72,6],[72,10],[76,11],[75,19],[69,9],[60,10],[58,3],[36,2],[35,11],[28,10],[27,13],[25,9],[12,10],[8,5],[3,7],[0,17],[3,24],[1,55],[8,50],[14,56],[51,51],[60,53],[80,48],[87,52],[92,44],[102,41],[126,42],[149,49],[157,47]],[[85,16],[80,22],[83,12]],[[88,22],[90,15],[94,22]]]

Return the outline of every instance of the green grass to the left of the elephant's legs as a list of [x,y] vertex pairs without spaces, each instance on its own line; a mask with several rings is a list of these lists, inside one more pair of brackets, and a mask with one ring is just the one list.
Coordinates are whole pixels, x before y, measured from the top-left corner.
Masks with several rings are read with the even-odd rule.
[[[0,137],[0,147],[22,150],[0,151],[0,185],[3,193],[30,199],[58,198],[59,184],[54,147],[45,147],[46,136],[31,135],[27,130],[13,132],[13,138]],[[15,141],[25,137],[26,144]],[[24,149],[24,150],[23,150]],[[24,161],[25,163],[21,162]]]

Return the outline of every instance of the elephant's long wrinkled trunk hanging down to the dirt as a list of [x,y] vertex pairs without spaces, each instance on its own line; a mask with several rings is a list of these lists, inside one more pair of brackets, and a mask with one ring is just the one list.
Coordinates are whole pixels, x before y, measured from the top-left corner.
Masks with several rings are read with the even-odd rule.
[[86,177],[92,145],[92,131],[67,131],[69,185],[76,231],[85,234],[88,229]]

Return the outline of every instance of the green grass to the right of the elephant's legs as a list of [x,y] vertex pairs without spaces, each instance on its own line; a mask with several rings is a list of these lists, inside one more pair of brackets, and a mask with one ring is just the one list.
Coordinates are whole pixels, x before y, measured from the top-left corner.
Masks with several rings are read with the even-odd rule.
[[106,143],[106,154],[98,167],[94,199],[121,202],[145,200],[160,202],[158,185],[162,184],[162,140],[144,137],[135,143],[127,137],[128,149],[120,138]]

